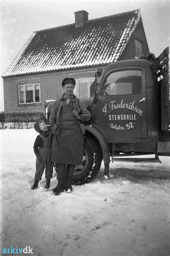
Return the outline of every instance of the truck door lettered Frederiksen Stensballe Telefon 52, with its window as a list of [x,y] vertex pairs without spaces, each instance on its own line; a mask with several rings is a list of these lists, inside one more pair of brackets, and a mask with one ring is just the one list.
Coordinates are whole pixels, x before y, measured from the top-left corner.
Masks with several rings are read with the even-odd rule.
[[145,68],[108,71],[101,84],[97,100],[99,127],[113,141],[147,138]]

